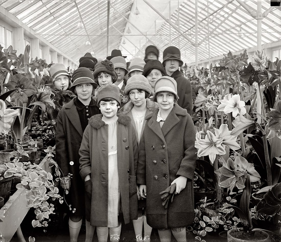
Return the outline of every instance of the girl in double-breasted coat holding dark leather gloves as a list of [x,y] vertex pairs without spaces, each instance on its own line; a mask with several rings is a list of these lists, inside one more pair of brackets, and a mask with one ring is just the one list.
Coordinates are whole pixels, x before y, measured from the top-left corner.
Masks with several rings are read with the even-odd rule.
[[[137,167],[140,194],[146,197],[147,222],[158,229],[161,242],[171,241],[171,231],[178,242],[186,241],[185,227],[194,216],[196,132],[191,116],[175,103],[176,86],[176,81],[168,76],[155,82],[153,100],[159,110],[146,116]],[[159,193],[173,184],[173,203],[164,207]]]

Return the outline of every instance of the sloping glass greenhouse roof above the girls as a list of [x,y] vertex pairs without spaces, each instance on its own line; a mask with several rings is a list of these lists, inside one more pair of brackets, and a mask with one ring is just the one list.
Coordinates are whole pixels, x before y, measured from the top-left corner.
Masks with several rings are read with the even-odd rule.
[[[176,28],[170,27],[144,0],[112,0],[108,47],[107,1],[3,0],[0,5],[77,63],[86,52],[93,51],[94,56],[105,59],[112,49],[121,49],[128,60],[144,57],[146,46],[151,44],[159,48],[160,60],[163,50],[174,45],[181,50],[185,63],[194,63],[195,47],[179,31],[195,42],[195,0],[148,2],[165,18],[170,18]],[[257,11],[256,0],[243,2]],[[134,14],[136,7],[139,15]],[[269,8],[270,0],[262,0],[262,13]],[[83,22],[81,29],[77,26],[79,21]],[[208,33],[211,33],[209,38]],[[229,50],[255,47],[257,20],[236,0],[200,0],[198,42],[203,42],[198,47],[198,63],[209,59],[208,39],[210,58]],[[90,45],[85,45],[86,41],[90,41]],[[270,9],[262,19],[262,44],[271,42],[281,42],[280,7]]]

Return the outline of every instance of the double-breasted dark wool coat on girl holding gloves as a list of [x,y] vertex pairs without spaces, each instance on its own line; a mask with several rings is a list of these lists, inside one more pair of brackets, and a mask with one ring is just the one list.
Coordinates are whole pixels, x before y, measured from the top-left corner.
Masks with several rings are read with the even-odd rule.
[[[137,167],[137,183],[146,185],[147,223],[157,229],[186,227],[194,217],[194,124],[187,111],[176,103],[162,129],[156,121],[157,114],[155,110],[146,117]],[[179,176],[187,178],[186,186],[165,209],[159,193]]]

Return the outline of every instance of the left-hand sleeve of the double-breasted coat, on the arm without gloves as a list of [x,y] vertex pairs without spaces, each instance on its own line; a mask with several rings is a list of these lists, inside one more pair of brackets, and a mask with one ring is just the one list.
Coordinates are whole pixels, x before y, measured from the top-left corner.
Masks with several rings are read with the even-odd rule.
[[140,141],[139,160],[137,165],[137,184],[146,185],[146,154],[145,154],[144,133]]

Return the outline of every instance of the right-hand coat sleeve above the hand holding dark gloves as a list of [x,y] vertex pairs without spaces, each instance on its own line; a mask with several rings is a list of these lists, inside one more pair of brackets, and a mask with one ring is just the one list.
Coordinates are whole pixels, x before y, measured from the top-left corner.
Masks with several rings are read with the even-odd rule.
[[197,159],[197,149],[194,147],[195,142],[195,127],[192,122],[192,118],[187,114],[187,122],[184,131],[184,157],[180,164],[180,169],[177,172],[177,176],[184,176],[189,180],[193,180],[194,170]]

